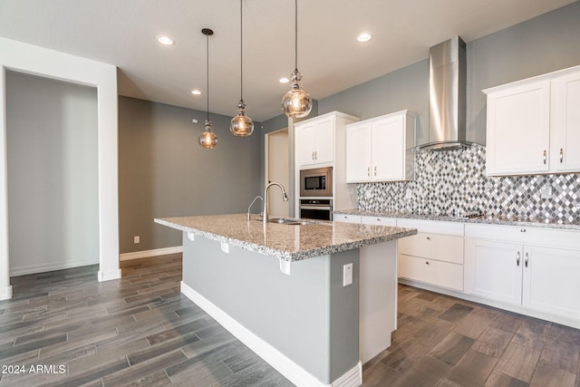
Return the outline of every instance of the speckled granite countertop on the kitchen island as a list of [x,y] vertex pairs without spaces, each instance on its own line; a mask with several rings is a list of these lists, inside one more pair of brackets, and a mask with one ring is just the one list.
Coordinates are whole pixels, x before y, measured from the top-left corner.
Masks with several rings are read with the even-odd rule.
[[297,261],[417,234],[415,228],[319,221],[301,226],[268,223],[257,215],[156,218],[155,223],[286,261]]

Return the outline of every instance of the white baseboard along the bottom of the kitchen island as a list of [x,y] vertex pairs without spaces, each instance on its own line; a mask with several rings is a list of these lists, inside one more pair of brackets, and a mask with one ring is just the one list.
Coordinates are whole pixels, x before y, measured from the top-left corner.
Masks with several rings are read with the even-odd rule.
[[193,290],[189,285],[181,281],[181,293],[198,305],[201,309],[212,316],[219,324],[245,343],[258,356],[269,363],[276,371],[282,373],[290,382],[297,386],[309,387],[356,387],[362,383],[362,364],[359,362],[352,370],[344,373],[332,384],[325,384],[316,379],[310,372],[304,370],[291,359],[280,353],[272,345],[266,343],[256,334],[249,331],[244,325],[239,324],[236,320],[214,305],[203,295]]

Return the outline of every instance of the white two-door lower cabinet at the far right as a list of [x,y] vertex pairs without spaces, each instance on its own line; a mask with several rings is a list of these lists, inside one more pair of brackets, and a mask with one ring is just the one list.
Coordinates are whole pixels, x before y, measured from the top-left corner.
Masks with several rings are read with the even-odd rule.
[[580,232],[469,225],[465,293],[580,320]]

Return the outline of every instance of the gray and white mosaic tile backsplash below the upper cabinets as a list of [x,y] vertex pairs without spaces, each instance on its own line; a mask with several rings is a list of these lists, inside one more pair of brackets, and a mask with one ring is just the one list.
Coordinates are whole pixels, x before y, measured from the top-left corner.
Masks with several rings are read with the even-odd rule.
[[[580,174],[486,177],[486,149],[420,150],[415,180],[360,183],[358,208],[425,215],[468,212],[510,218],[580,219]],[[540,189],[552,189],[542,198]]]

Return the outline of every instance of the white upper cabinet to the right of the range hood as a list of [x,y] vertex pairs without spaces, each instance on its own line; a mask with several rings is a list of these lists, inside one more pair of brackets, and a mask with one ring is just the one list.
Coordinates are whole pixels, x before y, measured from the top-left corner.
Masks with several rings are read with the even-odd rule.
[[580,66],[484,92],[488,176],[580,171]]

